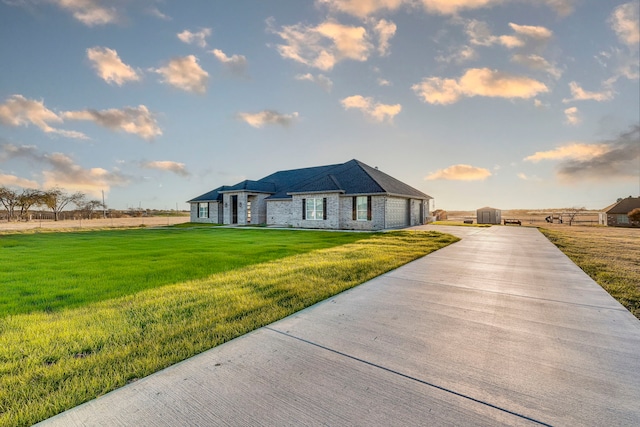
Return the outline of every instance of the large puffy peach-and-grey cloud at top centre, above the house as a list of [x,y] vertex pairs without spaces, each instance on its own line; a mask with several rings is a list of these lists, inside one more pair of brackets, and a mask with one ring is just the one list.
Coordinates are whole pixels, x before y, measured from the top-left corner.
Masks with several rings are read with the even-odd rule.
[[276,30],[271,19],[267,25],[269,31],[285,41],[276,46],[280,56],[323,71],[331,70],[345,59],[366,61],[373,49],[362,26],[328,20],[315,27],[295,24]]

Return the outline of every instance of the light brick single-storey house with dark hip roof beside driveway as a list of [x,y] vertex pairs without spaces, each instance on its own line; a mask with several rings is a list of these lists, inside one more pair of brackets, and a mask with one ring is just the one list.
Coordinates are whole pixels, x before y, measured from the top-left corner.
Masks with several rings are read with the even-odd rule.
[[358,160],[275,172],[188,201],[191,222],[381,230],[424,224],[432,197]]

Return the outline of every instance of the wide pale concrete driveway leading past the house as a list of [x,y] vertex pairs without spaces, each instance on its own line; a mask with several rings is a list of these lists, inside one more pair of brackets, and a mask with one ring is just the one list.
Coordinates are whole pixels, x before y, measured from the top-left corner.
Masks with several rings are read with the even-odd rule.
[[640,425],[640,321],[536,229],[463,240],[50,426]]

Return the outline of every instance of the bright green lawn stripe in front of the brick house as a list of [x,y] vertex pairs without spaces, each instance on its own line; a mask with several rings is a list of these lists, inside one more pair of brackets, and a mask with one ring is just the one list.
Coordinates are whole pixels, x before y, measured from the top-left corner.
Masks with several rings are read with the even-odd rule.
[[0,317],[134,294],[370,233],[137,229],[0,236]]

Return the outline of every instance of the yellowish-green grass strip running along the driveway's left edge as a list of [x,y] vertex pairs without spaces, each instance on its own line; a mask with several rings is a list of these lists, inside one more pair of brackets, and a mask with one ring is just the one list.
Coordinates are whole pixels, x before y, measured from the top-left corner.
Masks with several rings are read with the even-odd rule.
[[31,425],[457,240],[376,233],[83,307],[6,316],[0,426]]

